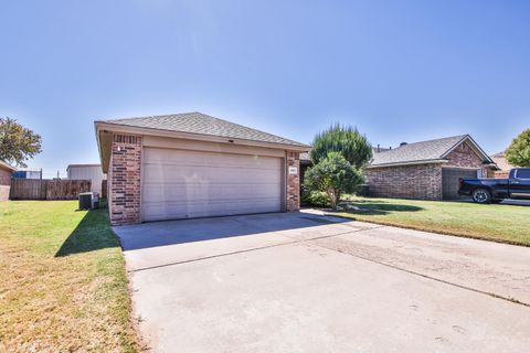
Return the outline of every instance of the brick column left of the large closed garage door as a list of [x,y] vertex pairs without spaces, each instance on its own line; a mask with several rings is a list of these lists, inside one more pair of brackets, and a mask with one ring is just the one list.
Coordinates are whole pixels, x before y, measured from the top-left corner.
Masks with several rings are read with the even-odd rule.
[[108,210],[113,225],[140,222],[141,137],[113,136]]

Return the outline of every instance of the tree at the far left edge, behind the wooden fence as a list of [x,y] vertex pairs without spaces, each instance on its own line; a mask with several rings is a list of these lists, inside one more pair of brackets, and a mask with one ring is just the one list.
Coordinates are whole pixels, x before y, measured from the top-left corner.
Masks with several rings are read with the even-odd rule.
[[24,161],[41,150],[42,139],[11,118],[0,118],[0,160],[17,167],[28,167]]

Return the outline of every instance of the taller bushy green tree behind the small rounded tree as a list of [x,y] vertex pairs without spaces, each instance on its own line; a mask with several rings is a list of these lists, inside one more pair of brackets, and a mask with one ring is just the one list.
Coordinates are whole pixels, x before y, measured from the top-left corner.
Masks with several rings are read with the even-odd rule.
[[331,151],[340,152],[356,168],[365,167],[372,159],[372,147],[367,137],[357,128],[340,124],[317,133],[312,141],[311,161],[317,164]]

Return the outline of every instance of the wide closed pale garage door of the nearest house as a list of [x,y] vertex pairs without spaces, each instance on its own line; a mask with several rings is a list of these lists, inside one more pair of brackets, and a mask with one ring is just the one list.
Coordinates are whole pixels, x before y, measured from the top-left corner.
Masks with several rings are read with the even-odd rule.
[[282,210],[282,159],[145,148],[144,221]]

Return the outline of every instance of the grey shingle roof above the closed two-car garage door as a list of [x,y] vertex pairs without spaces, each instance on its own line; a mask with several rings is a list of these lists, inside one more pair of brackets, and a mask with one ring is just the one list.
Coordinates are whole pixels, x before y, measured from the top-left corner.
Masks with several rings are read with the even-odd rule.
[[[96,121],[97,122],[97,121]],[[115,124],[138,128],[199,133],[206,136],[242,139],[258,142],[308,147],[304,143],[289,140],[276,135],[263,132],[239,124],[218,119],[201,113],[183,113],[149,117],[99,120],[99,122]]]

